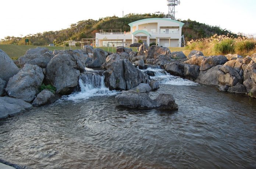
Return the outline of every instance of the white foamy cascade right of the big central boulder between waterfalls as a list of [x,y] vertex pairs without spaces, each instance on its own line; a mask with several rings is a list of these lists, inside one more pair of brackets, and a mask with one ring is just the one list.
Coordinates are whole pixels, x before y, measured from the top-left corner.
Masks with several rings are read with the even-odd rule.
[[178,76],[170,75],[168,72],[166,72],[163,69],[154,69],[154,68],[147,68],[145,71],[151,71],[154,72],[154,76],[150,76],[150,79],[157,80],[161,84],[171,84],[175,86],[196,86],[198,83],[195,83],[188,79],[182,79]]

